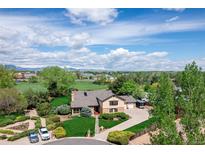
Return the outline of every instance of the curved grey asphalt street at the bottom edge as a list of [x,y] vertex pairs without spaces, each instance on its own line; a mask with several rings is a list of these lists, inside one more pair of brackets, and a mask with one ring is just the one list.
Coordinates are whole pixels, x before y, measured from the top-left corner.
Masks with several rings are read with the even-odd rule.
[[108,142],[88,138],[65,138],[46,145],[111,145]]

